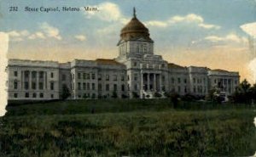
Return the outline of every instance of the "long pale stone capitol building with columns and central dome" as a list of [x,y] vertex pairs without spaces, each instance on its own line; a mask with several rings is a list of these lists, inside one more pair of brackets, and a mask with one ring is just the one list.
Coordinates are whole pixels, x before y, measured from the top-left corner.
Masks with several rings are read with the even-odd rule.
[[120,32],[115,59],[74,59],[67,63],[9,59],[9,100],[61,98],[68,88],[72,99],[165,98],[166,93],[205,96],[212,88],[227,95],[239,84],[239,73],[184,67],[154,54],[148,28],[137,19]]

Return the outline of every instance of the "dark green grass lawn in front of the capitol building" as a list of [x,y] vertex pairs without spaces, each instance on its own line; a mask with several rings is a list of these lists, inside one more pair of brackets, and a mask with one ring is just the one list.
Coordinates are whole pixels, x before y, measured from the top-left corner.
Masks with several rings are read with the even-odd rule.
[[0,156],[248,156],[254,107],[168,99],[9,106]]

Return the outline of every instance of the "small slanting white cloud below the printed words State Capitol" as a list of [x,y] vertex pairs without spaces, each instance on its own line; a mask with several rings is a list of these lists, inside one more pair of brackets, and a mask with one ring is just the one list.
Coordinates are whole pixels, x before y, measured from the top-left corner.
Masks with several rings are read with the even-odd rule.
[[40,26],[44,34],[48,37],[53,37],[55,39],[61,40],[60,31],[54,26],[49,25],[47,22],[42,23]]

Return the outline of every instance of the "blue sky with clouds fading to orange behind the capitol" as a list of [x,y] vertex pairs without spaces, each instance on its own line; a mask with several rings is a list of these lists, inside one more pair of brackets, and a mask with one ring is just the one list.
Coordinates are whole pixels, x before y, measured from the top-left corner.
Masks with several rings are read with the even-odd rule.
[[[19,11],[9,12],[10,6]],[[81,11],[24,11],[42,6]],[[100,11],[84,12],[84,6]],[[154,52],[167,61],[241,71],[249,60],[250,33],[241,25],[247,25],[250,32],[255,28],[256,23],[248,25],[256,19],[255,0],[1,0],[0,31],[9,33],[9,58],[115,58],[119,32],[131,20],[133,7],[150,31]]]

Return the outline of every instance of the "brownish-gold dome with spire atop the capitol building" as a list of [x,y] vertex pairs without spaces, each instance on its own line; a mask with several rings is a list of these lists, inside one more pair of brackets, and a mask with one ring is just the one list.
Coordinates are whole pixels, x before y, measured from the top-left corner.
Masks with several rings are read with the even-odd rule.
[[143,37],[144,39],[152,42],[152,40],[149,37],[148,28],[145,25],[143,25],[143,23],[140,20],[137,20],[135,8],[133,8],[133,18],[121,30],[120,36],[121,39],[125,41]]

